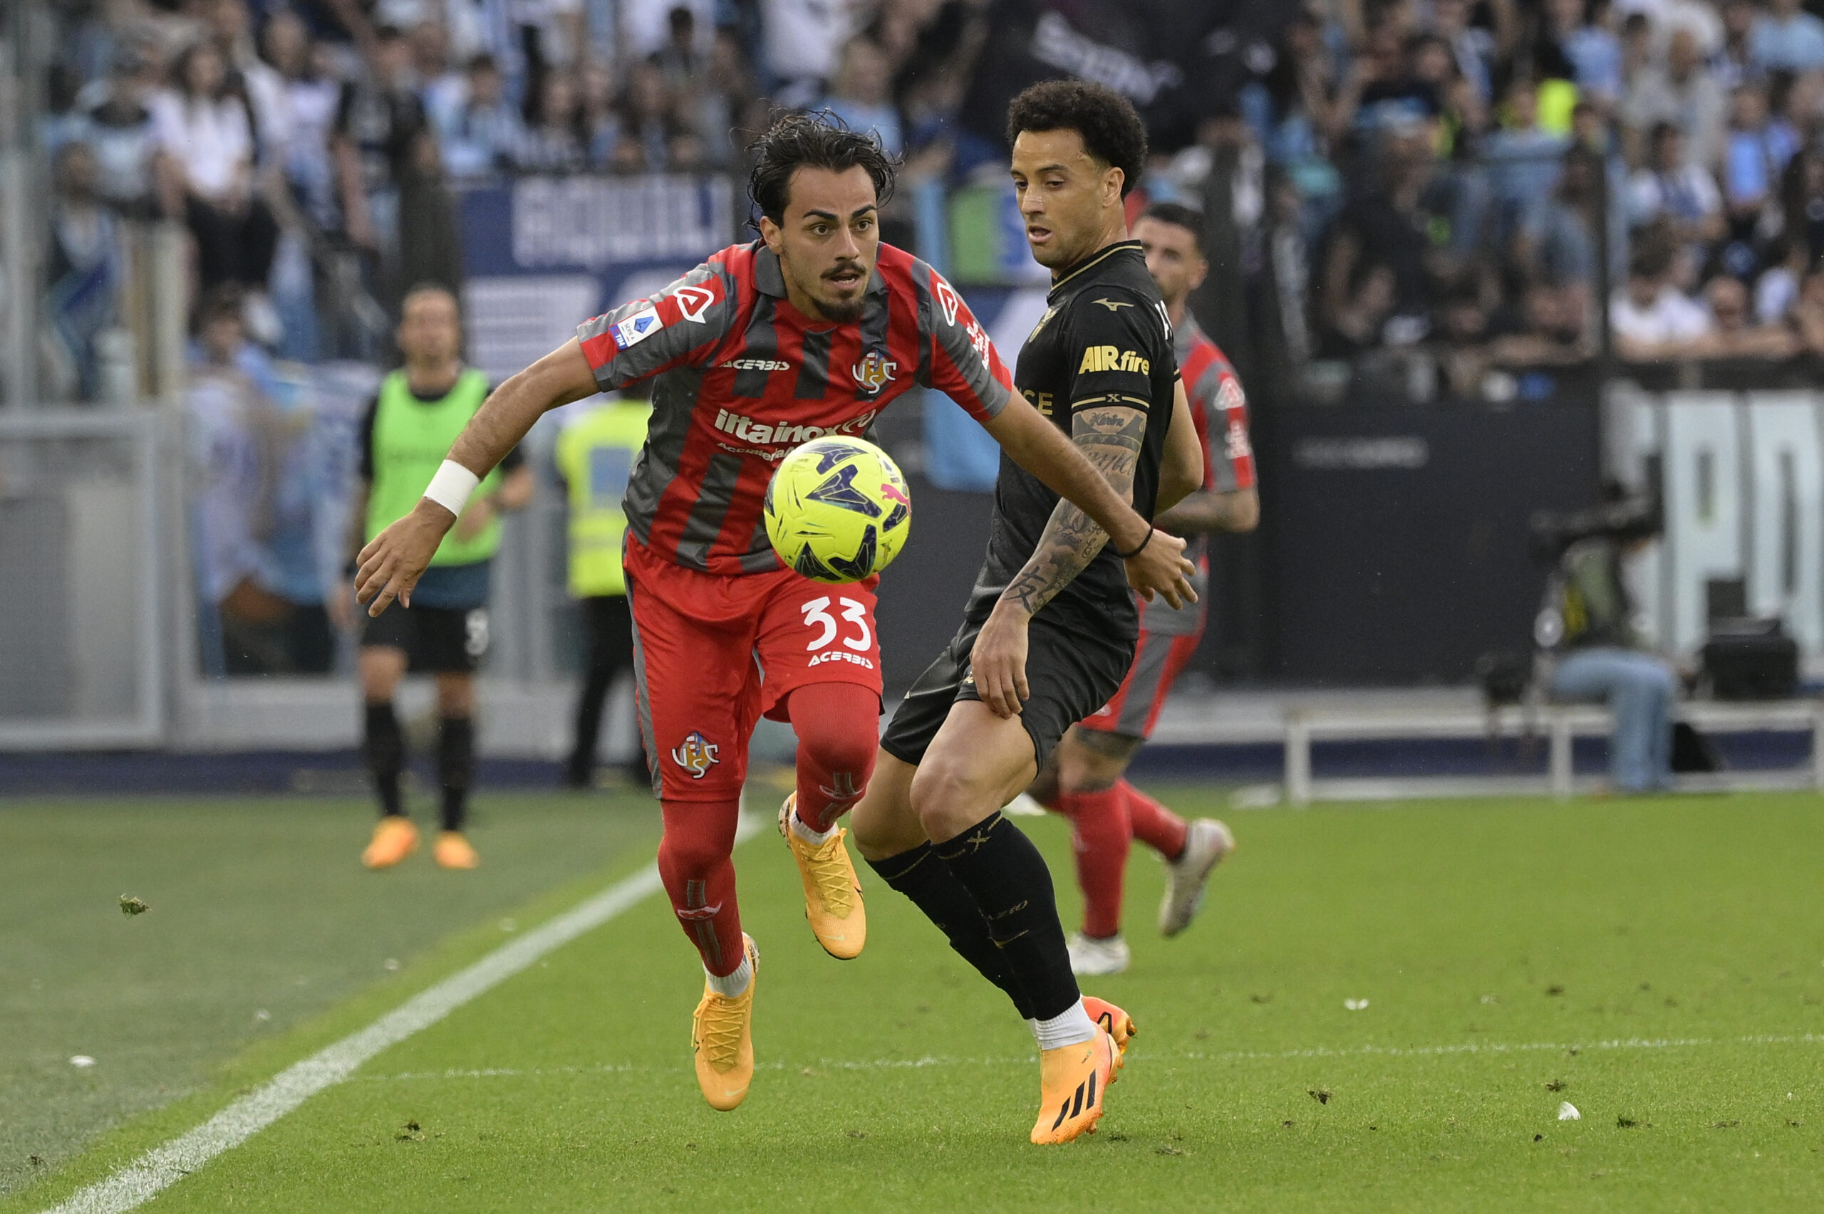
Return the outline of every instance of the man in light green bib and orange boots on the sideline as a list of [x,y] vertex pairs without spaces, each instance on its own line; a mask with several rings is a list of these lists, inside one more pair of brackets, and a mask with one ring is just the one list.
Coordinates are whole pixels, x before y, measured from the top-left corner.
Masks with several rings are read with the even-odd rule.
[[[405,366],[381,381],[361,425],[361,487],[352,512],[359,529],[356,550],[412,512],[451,443],[489,394],[487,376],[463,366],[456,295],[441,286],[414,288],[399,315]],[[522,509],[531,498],[533,470],[514,448],[482,481],[430,558],[412,589],[409,611],[361,616],[365,753],[381,811],[374,838],[361,853],[368,868],[392,868],[418,849],[418,828],[399,797],[405,738],[392,711],[392,694],[407,669],[430,673],[438,682],[443,831],[432,855],[443,868],[476,866],[463,818],[474,777],[474,673],[487,653],[489,571],[500,549],[500,514]]]

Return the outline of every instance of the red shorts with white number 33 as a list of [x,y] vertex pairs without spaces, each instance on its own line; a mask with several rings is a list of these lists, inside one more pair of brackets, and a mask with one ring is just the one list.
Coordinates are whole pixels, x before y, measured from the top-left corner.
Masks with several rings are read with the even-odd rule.
[[706,574],[653,556],[631,534],[626,569],[640,735],[664,800],[739,797],[755,722],[790,720],[797,687],[861,684],[881,694],[879,578]]

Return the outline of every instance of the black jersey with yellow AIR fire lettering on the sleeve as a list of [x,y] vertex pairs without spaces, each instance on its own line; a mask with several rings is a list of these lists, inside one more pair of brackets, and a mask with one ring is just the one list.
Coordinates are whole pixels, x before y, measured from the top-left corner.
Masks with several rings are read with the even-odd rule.
[[[1153,518],[1178,361],[1145,253],[1136,241],[1104,246],[1058,275],[1047,303],[1051,306],[1020,348],[1014,388],[1065,434],[1080,408],[1125,405],[1145,412],[1133,503],[1144,518]],[[994,529],[969,600],[970,618],[987,618],[994,609],[994,600],[1038,547],[1056,505],[1058,494],[1001,456]],[[1042,612],[1074,614],[1094,629],[1114,627],[1124,640],[1138,636],[1127,571],[1109,545]]]

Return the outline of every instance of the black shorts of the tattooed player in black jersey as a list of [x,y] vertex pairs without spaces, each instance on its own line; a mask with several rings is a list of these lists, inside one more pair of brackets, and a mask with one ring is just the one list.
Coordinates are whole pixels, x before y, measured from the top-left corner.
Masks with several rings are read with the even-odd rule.
[[[938,660],[925,667],[886,725],[883,751],[916,767],[950,715],[950,705],[981,698],[969,678],[969,654],[979,631],[979,623],[965,620]],[[1043,611],[1032,618],[1027,625],[1027,691],[1032,694],[1020,705],[1020,724],[1032,735],[1032,755],[1040,769],[1065,729],[1120,691],[1133,660],[1131,640],[1069,620],[1047,620]]]

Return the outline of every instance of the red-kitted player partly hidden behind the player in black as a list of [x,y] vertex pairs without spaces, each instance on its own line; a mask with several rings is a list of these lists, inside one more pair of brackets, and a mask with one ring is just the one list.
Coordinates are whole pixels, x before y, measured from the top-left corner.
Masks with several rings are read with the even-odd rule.
[[[1248,399],[1228,357],[1204,335],[1186,299],[1204,281],[1204,221],[1197,211],[1162,202],[1135,224],[1147,270],[1158,283],[1171,315],[1178,374],[1191,397],[1191,417],[1204,448],[1204,487],[1155,521],[1191,538],[1186,554],[1197,561],[1197,591],[1209,580],[1206,536],[1213,530],[1253,530],[1260,520],[1255,492],[1253,447],[1248,443]],[[1069,941],[1071,968],[1082,975],[1127,968],[1122,939],[1122,879],[1129,840],[1138,838],[1166,860],[1166,897],[1158,926],[1184,931],[1202,900],[1209,871],[1235,848],[1229,829],[1215,818],[1186,822],[1127,782],[1127,764],[1153,735],[1173,680],[1197,653],[1206,605],[1173,609],[1151,603],[1140,616],[1140,643],[1127,680],[1096,715],[1078,722],[1032,784],[1032,795],[1073,824],[1076,880],[1083,888],[1083,930]]]

